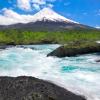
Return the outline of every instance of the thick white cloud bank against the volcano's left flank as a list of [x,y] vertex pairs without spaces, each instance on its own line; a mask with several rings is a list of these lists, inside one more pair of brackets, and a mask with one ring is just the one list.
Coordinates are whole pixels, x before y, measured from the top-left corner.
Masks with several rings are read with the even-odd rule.
[[20,15],[11,9],[4,8],[3,15],[0,15],[0,25],[9,25],[16,23],[28,23],[32,21],[32,15]]

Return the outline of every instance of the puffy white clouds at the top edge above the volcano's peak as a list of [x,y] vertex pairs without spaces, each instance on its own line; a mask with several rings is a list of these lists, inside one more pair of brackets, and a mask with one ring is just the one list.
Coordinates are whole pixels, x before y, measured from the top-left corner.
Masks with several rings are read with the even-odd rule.
[[40,10],[43,7],[53,7],[53,2],[56,0],[17,0],[17,7],[31,11],[32,9]]

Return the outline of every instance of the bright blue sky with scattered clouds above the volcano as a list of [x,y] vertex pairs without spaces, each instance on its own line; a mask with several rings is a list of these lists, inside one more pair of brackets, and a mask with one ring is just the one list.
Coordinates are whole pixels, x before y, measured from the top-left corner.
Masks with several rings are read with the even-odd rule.
[[34,14],[44,7],[51,7],[59,14],[82,24],[100,26],[100,0],[0,0],[3,9],[18,14]]

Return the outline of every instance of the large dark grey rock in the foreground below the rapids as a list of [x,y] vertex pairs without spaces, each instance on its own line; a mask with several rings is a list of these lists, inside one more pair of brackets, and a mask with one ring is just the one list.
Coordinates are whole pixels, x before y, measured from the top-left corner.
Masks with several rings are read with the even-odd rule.
[[0,77],[0,100],[86,100],[33,77]]

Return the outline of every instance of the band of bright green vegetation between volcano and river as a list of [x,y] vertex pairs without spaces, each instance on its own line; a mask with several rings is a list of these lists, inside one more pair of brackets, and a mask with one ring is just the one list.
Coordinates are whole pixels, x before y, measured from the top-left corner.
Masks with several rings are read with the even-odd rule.
[[100,30],[68,30],[68,31],[21,31],[6,29],[0,31],[0,44],[35,44],[60,43],[69,41],[100,40]]

